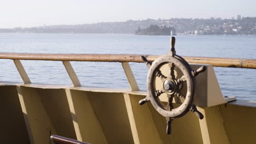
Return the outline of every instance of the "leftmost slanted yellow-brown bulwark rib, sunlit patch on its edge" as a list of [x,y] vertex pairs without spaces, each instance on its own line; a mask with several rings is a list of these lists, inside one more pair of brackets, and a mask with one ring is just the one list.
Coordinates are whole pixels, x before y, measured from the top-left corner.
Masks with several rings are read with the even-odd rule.
[[30,142],[36,144],[53,143],[49,137],[56,134],[51,119],[46,112],[36,88],[17,86],[22,112]]

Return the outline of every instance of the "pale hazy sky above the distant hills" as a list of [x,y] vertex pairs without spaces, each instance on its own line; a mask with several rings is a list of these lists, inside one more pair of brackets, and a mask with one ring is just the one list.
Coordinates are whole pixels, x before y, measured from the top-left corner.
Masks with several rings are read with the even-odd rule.
[[172,17],[256,17],[255,0],[1,0],[0,28]]

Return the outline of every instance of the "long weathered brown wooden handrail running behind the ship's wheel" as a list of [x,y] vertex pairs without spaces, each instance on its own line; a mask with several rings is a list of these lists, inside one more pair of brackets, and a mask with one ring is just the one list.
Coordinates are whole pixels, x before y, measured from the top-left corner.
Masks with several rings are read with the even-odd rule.
[[[40,61],[88,61],[88,62],[137,62],[142,63],[142,55],[127,54],[53,54],[53,53],[0,53],[0,59],[21,59]],[[158,56],[144,55],[148,61]],[[189,63],[212,64],[214,67],[256,69],[256,59],[183,57]]]

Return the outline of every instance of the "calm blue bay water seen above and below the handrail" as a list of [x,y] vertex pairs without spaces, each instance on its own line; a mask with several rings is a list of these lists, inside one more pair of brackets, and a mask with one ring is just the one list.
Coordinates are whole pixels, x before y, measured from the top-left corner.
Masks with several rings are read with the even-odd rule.
[[[0,34],[0,52],[128,53],[164,55],[170,37],[133,34]],[[178,35],[177,55],[256,58],[256,36]],[[71,62],[83,86],[130,88],[120,63]],[[62,62],[22,61],[33,83],[71,85]],[[139,87],[146,90],[147,68],[131,63]],[[256,69],[214,68],[224,95],[256,100]],[[13,61],[0,59],[0,81],[21,82]]]

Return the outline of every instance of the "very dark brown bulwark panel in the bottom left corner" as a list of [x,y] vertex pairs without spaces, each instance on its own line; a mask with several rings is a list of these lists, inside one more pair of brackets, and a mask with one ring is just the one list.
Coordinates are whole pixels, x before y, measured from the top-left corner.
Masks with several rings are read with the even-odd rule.
[[1,143],[30,143],[16,86],[1,86]]

